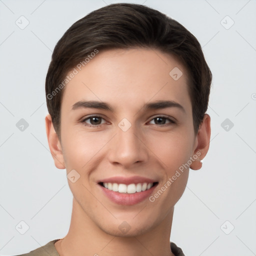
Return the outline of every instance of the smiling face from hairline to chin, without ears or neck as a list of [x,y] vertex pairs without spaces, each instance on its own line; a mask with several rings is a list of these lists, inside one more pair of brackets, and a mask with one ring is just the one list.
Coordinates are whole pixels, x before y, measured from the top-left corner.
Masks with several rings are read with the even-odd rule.
[[187,182],[181,166],[197,146],[187,73],[176,58],[156,49],[99,51],[66,85],[60,119],[81,215],[119,236],[167,221]]

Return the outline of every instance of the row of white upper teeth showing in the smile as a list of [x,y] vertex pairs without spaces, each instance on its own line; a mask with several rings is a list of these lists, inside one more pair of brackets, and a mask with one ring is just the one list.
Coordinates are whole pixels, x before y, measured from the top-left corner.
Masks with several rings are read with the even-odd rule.
[[117,184],[117,183],[103,183],[103,186],[109,190],[118,191],[119,193],[135,193],[145,191],[153,186],[153,183],[132,183],[132,184]]

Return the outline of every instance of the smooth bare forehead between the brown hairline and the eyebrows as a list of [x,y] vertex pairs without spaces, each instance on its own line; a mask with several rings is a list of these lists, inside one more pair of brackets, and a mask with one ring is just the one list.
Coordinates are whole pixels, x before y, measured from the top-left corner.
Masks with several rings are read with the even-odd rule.
[[74,67],[65,86],[61,108],[67,111],[79,100],[130,110],[150,100],[174,100],[191,109],[187,72],[175,56],[148,48],[108,49],[84,63]]

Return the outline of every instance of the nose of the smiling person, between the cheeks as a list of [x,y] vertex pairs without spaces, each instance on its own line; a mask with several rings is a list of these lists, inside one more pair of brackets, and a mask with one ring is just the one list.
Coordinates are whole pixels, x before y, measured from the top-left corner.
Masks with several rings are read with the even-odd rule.
[[135,125],[131,125],[126,131],[117,126],[116,135],[109,144],[108,160],[123,168],[129,168],[135,163],[146,162],[148,148],[143,140],[143,135],[136,130]]

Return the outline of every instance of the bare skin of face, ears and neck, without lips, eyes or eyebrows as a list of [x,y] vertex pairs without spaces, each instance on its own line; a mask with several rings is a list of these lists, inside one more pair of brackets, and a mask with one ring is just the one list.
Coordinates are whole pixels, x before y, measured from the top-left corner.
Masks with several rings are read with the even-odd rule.
[[[169,72],[182,71],[178,80]],[[46,115],[49,148],[57,168],[75,169],[80,178],[68,179],[73,194],[71,223],[67,235],[55,243],[60,256],[174,255],[170,231],[174,205],[184,192],[189,168],[154,202],[135,205],[110,201],[97,185],[102,178],[139,175],[158,181],[157,191],[176,170],[200,152],[191,169],[201,168],[210,139],[210,117],[204,115],[197,134],[193,130],[187,72],[172,55],[158,49],[111,49],[99,53],[66,85],[61,103],[61,141],[50,115]],[[98,100],[105,109],[71,110],[79,100]],[[147,102],[174,100],[183,106],[144,110]],[[88,115],[101,119],[87,119]],[[155,117],[170,117],[162,122]],[[118,123],[126,118],[127,131]],[[90,127],[88,125],[100,125]],[[164,125],[164,126],[163,126]],[[126,221],[130,230],[118,226]]]

